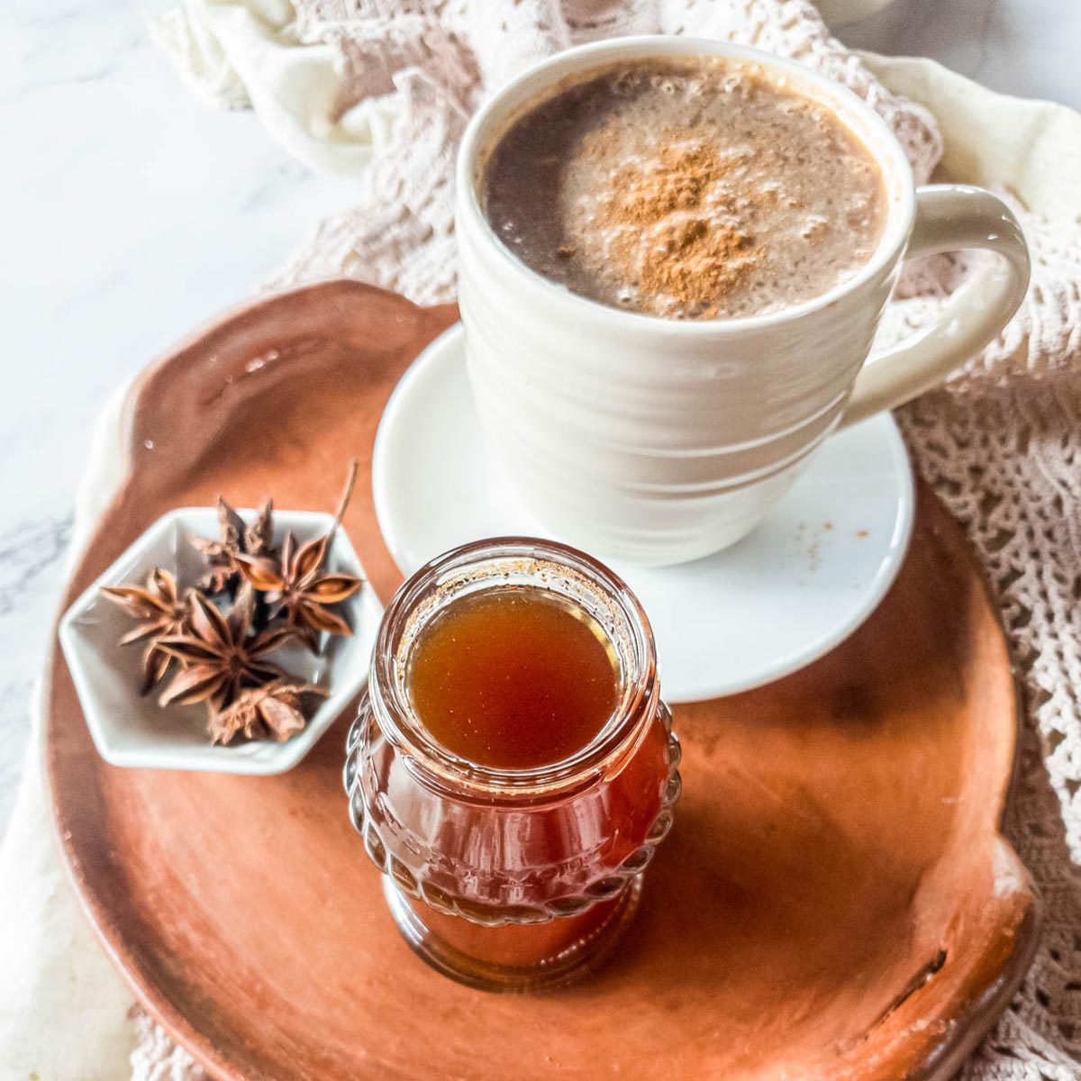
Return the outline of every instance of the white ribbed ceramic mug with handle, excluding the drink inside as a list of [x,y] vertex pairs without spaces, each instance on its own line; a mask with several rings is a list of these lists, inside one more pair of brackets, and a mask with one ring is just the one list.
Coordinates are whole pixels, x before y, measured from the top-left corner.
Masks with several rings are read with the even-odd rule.
[[[855,276],[777,312],[681,321],[577,296],[499,241],[481,211],[478,174],[523,106],[613,62],[685,55],[762,65],[832,109],[871,150],[889,215]],[[1029,277],[1009,208],[978,188],[916,189],[900,144],[850,91],[757,50],[677,37],[573,49],[495,94],[462,144],[456,229],[469,378],[515,489],[561,539],[646,564],[697,559],[745,536],[830,432],[933,387],[998,334]],[[868,359],[902,261],[963,248],[1002,258],[933,326]]]

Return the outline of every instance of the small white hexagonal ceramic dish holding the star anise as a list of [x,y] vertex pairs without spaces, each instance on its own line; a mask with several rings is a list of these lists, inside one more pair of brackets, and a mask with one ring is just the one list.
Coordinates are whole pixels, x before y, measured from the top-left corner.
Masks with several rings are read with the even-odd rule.
[[[239,513],[244,521],[255,516],[253,510]],[[275,534],[279,538],[291,530],[303,543],[325,534],[333,522],[331,515],[275,510]],[[204,563],[188,543],[192,533],[217,536],[216,509],[185,507],[159,518],[61,619],[61,645],[94,746],[112,765],[252,775],[282,773],[307,755],[362,690],[382,606],[365,582],[346,602],[351,638],[328,637],[318,656],[301,645],[284,646],[273,654],[273,663],[291,676],[324,686],[329,692],[303,732],[285,743],[252,740],[212,746],[201,704],[163,709],[158,705],[157,692],[141,696],[143,649],[117,644],[131,629],[132,622],[99,592],[102,586],[142,583],[154,566],[172,570],[182,585],[198,580]],[[326,563],[332,573],[363,577],[360,560],[341,529]]]

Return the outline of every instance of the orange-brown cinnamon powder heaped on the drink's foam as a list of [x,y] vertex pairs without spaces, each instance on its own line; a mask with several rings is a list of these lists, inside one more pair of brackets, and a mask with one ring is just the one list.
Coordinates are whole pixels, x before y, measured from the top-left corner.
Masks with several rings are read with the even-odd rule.
[[[601,128],[585,137],[582,150],[602,163],[619,154],[620,143]],[[694,129],[670,128],[655,157],[615,170],[595,224],[608,238],[606,262],[640,294],[708,319],[761,264],[755,238],[734,216],[735,193],[725,183],[730,165],[731,159]],[[743,203],[768,198],[749,190],[738,195]]]

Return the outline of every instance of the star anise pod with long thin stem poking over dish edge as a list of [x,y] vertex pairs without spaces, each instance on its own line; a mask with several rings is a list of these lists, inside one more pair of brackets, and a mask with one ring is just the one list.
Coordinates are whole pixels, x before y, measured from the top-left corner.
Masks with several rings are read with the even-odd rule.
[[270,618],[277,618],[284,612],[289,626],[313,653],[319,651],[319,636],[323,631],[347,638],[352,635],[349,624],[328,605],[338,604],[351,597],[364,582],[352,574],[324,574],[323,563],[356,480],[357,463],[353,462],[334,524],[326,536],[316,537],[297,547],[293,534],[286,533],[278,559],[244,553],[235,557],[244,580],[263,593],[271,605]]

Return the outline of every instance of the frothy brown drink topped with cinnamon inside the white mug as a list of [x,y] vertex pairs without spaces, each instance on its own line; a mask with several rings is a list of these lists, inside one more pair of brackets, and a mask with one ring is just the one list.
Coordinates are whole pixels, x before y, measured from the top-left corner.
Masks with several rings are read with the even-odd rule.
[[656,57],[528,103],[481,161],[483,213],[572,293],[669,319],[763,315],[827,293],[878,246],[875,158],[755,63]]

